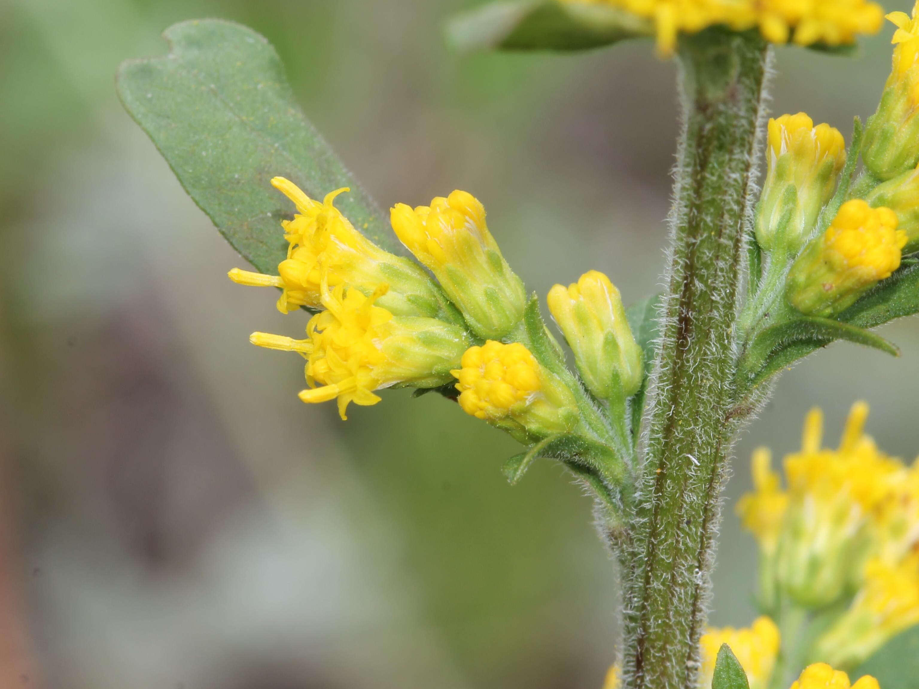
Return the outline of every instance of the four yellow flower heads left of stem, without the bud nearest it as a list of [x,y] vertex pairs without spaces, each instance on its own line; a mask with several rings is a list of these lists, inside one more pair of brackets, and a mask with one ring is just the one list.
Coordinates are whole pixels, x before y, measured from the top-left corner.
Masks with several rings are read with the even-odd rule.
[[280,288],[278,310],[284,313],[319,311],[307,324],[306,339],[270,333],[250,338],[307,360],[310,387],[301,391],[302,401],[337,399],[345,419],[351,402],[380,401],[375,390],[437,388],[459,378],[460,407],[518,438],[530,441],[577,424],[573,392],[524,344],[475,345],[477,337],[522,332],[527,300],[477,198],[457,190],[430,206],[391,209],[399,239],[431,269],[445,296],[421,266],[355,230],[334,204],[346,189],[319,203],[283,177],[271,182],[297,209],[293,220],[281,222],[287,257],[277,276],[233,268],[230,277]]

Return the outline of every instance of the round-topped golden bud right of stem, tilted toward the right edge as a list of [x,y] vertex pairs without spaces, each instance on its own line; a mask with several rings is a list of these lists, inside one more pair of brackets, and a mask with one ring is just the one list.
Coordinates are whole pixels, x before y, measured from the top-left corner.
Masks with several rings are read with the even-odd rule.
[[832,316],[900,267],[906,233],[891,209],[846,201],[823,236],[804,248],[789,272],[786,295],[798,311]]

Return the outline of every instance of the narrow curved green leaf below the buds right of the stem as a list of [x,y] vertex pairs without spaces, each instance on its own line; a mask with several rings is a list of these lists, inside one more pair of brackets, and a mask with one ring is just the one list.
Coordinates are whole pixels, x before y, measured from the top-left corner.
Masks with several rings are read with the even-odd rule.
[[834,340],[865,344],[900,356],[895,344],[856,325],[817,316],[800,316],[776,323],[759,333],[744,356],[742,371],[753,378],[755,384]]

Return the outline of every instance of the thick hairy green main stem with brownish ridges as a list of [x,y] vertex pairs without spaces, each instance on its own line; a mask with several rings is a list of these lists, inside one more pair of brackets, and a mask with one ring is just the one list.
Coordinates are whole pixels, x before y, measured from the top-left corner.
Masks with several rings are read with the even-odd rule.
[[630,689],[697,683],[719,495],[737,426],[735,321],[766,55],[755,33],[709,30],[680,43],[685,120],[668,294],[623,554]]

